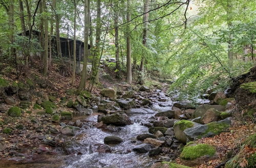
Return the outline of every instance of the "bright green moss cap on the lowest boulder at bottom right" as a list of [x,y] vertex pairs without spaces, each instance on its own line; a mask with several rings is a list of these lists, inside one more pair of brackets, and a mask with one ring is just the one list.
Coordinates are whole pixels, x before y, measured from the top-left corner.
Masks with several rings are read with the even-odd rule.
[[180,157],[185,160],[194,160],[201,156],[214,156],[216,153],[215,147],[208,144],[198,144],[196,146],[186,146],[180,154]]

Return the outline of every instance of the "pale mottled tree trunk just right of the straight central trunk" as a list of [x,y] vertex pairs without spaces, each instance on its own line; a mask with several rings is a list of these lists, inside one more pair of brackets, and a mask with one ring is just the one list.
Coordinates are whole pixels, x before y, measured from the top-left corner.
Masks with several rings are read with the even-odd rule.
[[[148,21],[148,10],[150,5],[149,0],[144,0],[144,15],[143,15],[143,39],[142,44],[144,47],[146,47],[146,38],[147,38],[147,21]],[[144,83],[144,61],[145,61],[145,55],[141,55],[141,62],[140,62],[140,85],[143,85]]]

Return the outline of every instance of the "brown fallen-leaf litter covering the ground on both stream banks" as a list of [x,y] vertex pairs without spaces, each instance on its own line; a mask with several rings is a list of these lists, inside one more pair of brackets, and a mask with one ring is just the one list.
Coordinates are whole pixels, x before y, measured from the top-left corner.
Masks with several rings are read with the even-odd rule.
[[[70,89],[75,89],[77,88],[78,84],[79,84],[79,80],[80,77],[76,76],[75,78],[75,85],[71,86],[70,84],[70,77],[64,77],[62,75],[60,75],[57,71],[56,71],[56,67],[53,64],[52,68],[50,68],[49,70],[49,76],[44,77],[41,75],[41,73],[38,71],[38,68],[32,68],[29,72],[26,73],[25,76],[21,77],[21,80],[25,81],[26,78],[33,78],[34,75],[38,76],[40,79],[45,80],[47,85],[49,87],[46,88],[40,88],[39,86],[34,87],[34,92],[44,92],[45,93],[56,93],[56,97],[57,97],[57,102],[60,101],[61,97],[68,97],[69,100],[75,100],[74,96],[68,96],[66,91],[70,90]],[[13,82],[17,82],[15,80],[15,75],[9,75],[9,76],[3,76],[3,78],[8,79],[9,81],[13,81]],[[127,85],[127,83],[122,82],[122,81],[118,81],[116,79],[113,79],[114,77],[107,77],[105,78],[104,76],[100,76],[100,82],[101,82],[101,86],[97,86],[94,87],[93,89],[93,94],[95,96],[100,96],[99,95],[99,91],[102,88],[106,88],[106,87],[117,87],[120,90],[123,90],[124,88],[129,87],[129,85]],[[153,83],[158,83],[158,85],[161,85],[161,83],[157,82],[157,81],[153,81]],[[165,88],[162,88],[164,91],[167,91],[167,87],[166,85],[164,85]],[[31,102],[34,104],[36,102],[36,97],[32,96],[31,98]],[[8,106],[9,107],[9,106]],[[70,110],[70,109],[66,109],[65,107],[61,108],[62,110]],[[26,109],[28,110],[32,110],[35,111],[33,109],[33,107],[31,106],[30,108]],[[1,115],[0,116],[0,121],[4,121],[5,120],[5,115]],[[35,121],[35,123],[31,123],[31,118],[37,119],[37,121]],[[2,138],[2,140],[5,141],[5,148],[6,149],[10,149],[6,152],[0,152],[0,156],[1,158],[10,158],[12,157],[13,154],[15,154],[15,149],[20,148],[21,146],[23,146],[23,148],[25,147],[33,147],[34,145],[32,145],[33,143],[37,143],[38,140],[40,140],[40,137],[35,136],[34,138],[27,138],[27,137],[31,137],[33,134],[37,134],[40,133],[40,131],[36,131],[37,129],[37,122],[41,122],[44,123],[44,121],[48,121],[51,122],[49,119],[39,119],[36,116],[36,113],[32,113],[32,114],[24,114],[24,118],[23,121],[19,121],[19,120],[13,120],[13,122],[9,122],[8,123],[8,127],[12,127],[15,128],[17,123],[19,124],[23,124],[24,126],[29,127],[29,129],[31,130],[30,132],[24,132],[24,133],[15,133],[16,131],[13,132],[12,135],[1,135],[0,134],[0,139]],[[43,131],[45,131],[46,129],[48,129],[48,124],[42,124],[43,125]],[[59,128],[60,126],[57,126],[55,128]],[[2,130],[1,130],[2,131]],[[37,132],[37,133],[36,133]],[[205,164],[201,164],[198,165],[196,167],[215,167],[218,164],[220,164],[221,162],[225,161],[225,156],[227,155],[227,153],[233,149],[236,149],[237,147],[239,147],[241,145],[241,143],[244,141],[244,139],[246,139],[247,136],[249,136],[250,134],[254,134],[256,132],[256,125],[250,121],[248,122],[243,122],[240,121],[237,118],[233,118],[232,119],[232,125],[229,128],[229,130],[227,132],[222,132],[219,135],[215,135],[213,137],[206,137],[206,138],[201,138],[199,139],[197,142],[198,143],[203,143],[203,144],[210,144],[216,147],[217,152],[219,153],[219,158],[215,159],[215,160],[211,160],[209,162],[206,162]],[[246,136],[245,136],[246,135]],[[59,142],[60,143],[60,142]],[[14,145],[15,144],[15,145]],[[14,149],[14,150],[13,150]],[[32,151],[33,148],[31,149],[27,149],[28,151],[31,150]],[[25,149],[23,149],[25,150]],[[30,151],[30,152],[31,152]],[[12,154],[11,154],[12,153]],[[29,152],[28,152],[29,153]],[[182,164],[180,162],[180,159],[177,158],[176,162],[179,164]]]

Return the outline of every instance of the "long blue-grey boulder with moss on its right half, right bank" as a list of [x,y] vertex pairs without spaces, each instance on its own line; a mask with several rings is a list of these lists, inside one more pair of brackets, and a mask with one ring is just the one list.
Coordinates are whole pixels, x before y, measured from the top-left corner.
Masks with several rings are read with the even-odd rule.
[[225,131],[230,126],[230,124],[230,118],[226,118],[218,122],[211,122],[205,125],[196,125],[194,127],[187,128],[184,130],[184,134],[188,139],[194,141],[202,137],[209,137],[220,134],[221,132]]

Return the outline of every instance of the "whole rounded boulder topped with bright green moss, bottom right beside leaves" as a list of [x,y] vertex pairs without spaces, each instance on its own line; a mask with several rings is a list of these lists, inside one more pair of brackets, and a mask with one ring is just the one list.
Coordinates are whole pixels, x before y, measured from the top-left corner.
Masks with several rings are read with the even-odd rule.
[[215,147],[208,144],[189,143],[180,154],[181,162],[187,166],[203,164],[217,158]]

